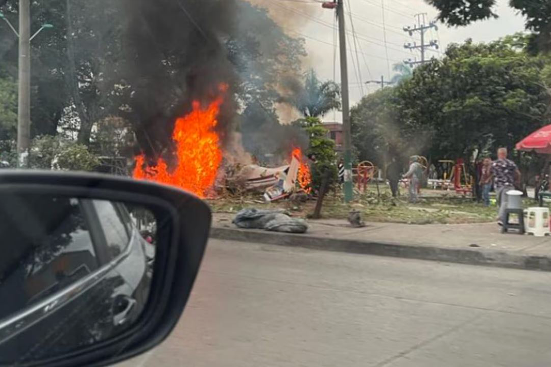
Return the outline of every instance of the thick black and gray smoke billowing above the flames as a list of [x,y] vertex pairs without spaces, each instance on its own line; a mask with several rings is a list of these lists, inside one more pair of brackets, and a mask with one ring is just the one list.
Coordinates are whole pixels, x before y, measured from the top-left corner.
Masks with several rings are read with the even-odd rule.
[[[212,101],[220,83],[229,85],[218,119],[226,152],[246,157],[235,146],[236,130],[251,154],[262,149],[262,155],[287,155],[289,145],[305,145],[300,130],[280,125],[273,113],[282,75],[288,80],[300,73],[303,40],[287,36],[263,9],[245,0],[125,4],[122,68],[132,94],[127,118],[141,151],[170,161],[174,120],[191,110],[192,100]],[[267,113],[251,113],[257,104]]]

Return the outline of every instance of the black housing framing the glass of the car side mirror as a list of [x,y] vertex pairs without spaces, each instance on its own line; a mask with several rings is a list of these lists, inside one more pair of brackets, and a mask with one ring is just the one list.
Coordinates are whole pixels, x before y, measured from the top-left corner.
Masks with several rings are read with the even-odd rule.
[[[154,213],[158,223],[149,297],[143,312],[133,325],[112,338],[91,343],[62,355],[48,355],[45,359],[0,359],[0,364],[110,365],[153,348],[169,335],[186,305],[207,243],[211,213],[202,200],[177,188],[129,178],[89,173],[18,170],[2,170],[0,194],[69,195],[85,199],[129,202],[141,205]],[[48,304],[47,307],[52,305]],[[58,306],[63,305],[55,305]],[[2,320],[0,337],[1,328]],[[52,335],[48,337],[55,338],[55,330],[51,332]]]

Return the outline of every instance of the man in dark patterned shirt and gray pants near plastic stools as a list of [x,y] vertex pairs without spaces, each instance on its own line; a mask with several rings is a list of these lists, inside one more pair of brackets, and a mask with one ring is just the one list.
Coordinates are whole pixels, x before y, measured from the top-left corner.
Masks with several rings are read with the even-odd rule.
[[498,199],[498,224],[503,226],[505,209],[507,209],[507,193],[520,184],[520,171],[515,162],[507,159],[507,148],[498,149],[498,160],[491,164],[491,175],[494,177],[495,193]]

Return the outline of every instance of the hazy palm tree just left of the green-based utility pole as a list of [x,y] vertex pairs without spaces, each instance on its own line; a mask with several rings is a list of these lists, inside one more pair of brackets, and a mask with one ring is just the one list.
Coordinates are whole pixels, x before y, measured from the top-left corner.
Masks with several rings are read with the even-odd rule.
[[341,88],[334,81],[321,81],[310,69],[290,102],[304,117],[321,117],[335,108],[341,108]]

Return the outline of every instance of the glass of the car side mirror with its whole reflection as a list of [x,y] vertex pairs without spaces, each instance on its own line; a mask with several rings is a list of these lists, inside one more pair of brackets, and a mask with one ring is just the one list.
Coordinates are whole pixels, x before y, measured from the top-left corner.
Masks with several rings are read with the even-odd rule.
[[0,364],[56,357],[136,323],[153,277],[151,211],[69,196],[0,202]]

